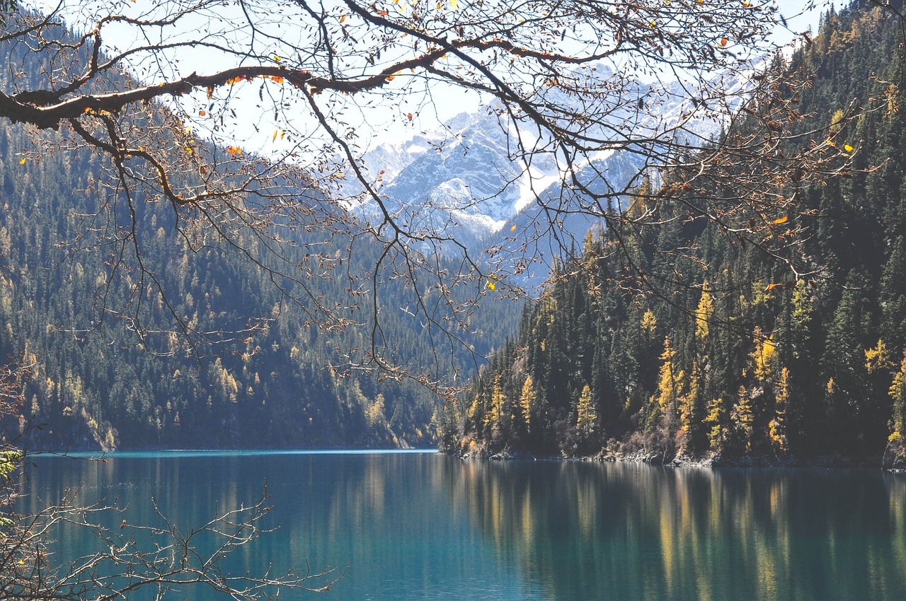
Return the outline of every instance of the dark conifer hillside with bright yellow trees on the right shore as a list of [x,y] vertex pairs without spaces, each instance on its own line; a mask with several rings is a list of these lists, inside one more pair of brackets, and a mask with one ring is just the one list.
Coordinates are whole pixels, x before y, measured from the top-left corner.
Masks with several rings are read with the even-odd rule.
[[[814,129],[816,148],[852,161],[784,191],[797,210],[768,215],[764,228],[786,241],[778,256],[732,224],[690,218],[694,192],[671,188],[667,174],[660,193],[629,209],[656,212],[660,224],[587,236],[525,311],[518,337],[450,406],[443,448],[902,456],[903,43],[895,14],[855,2],[776,59],[810,86],[784,99],[804,119],[768,128]],[[747,119],[772,110],[753,102]]]

